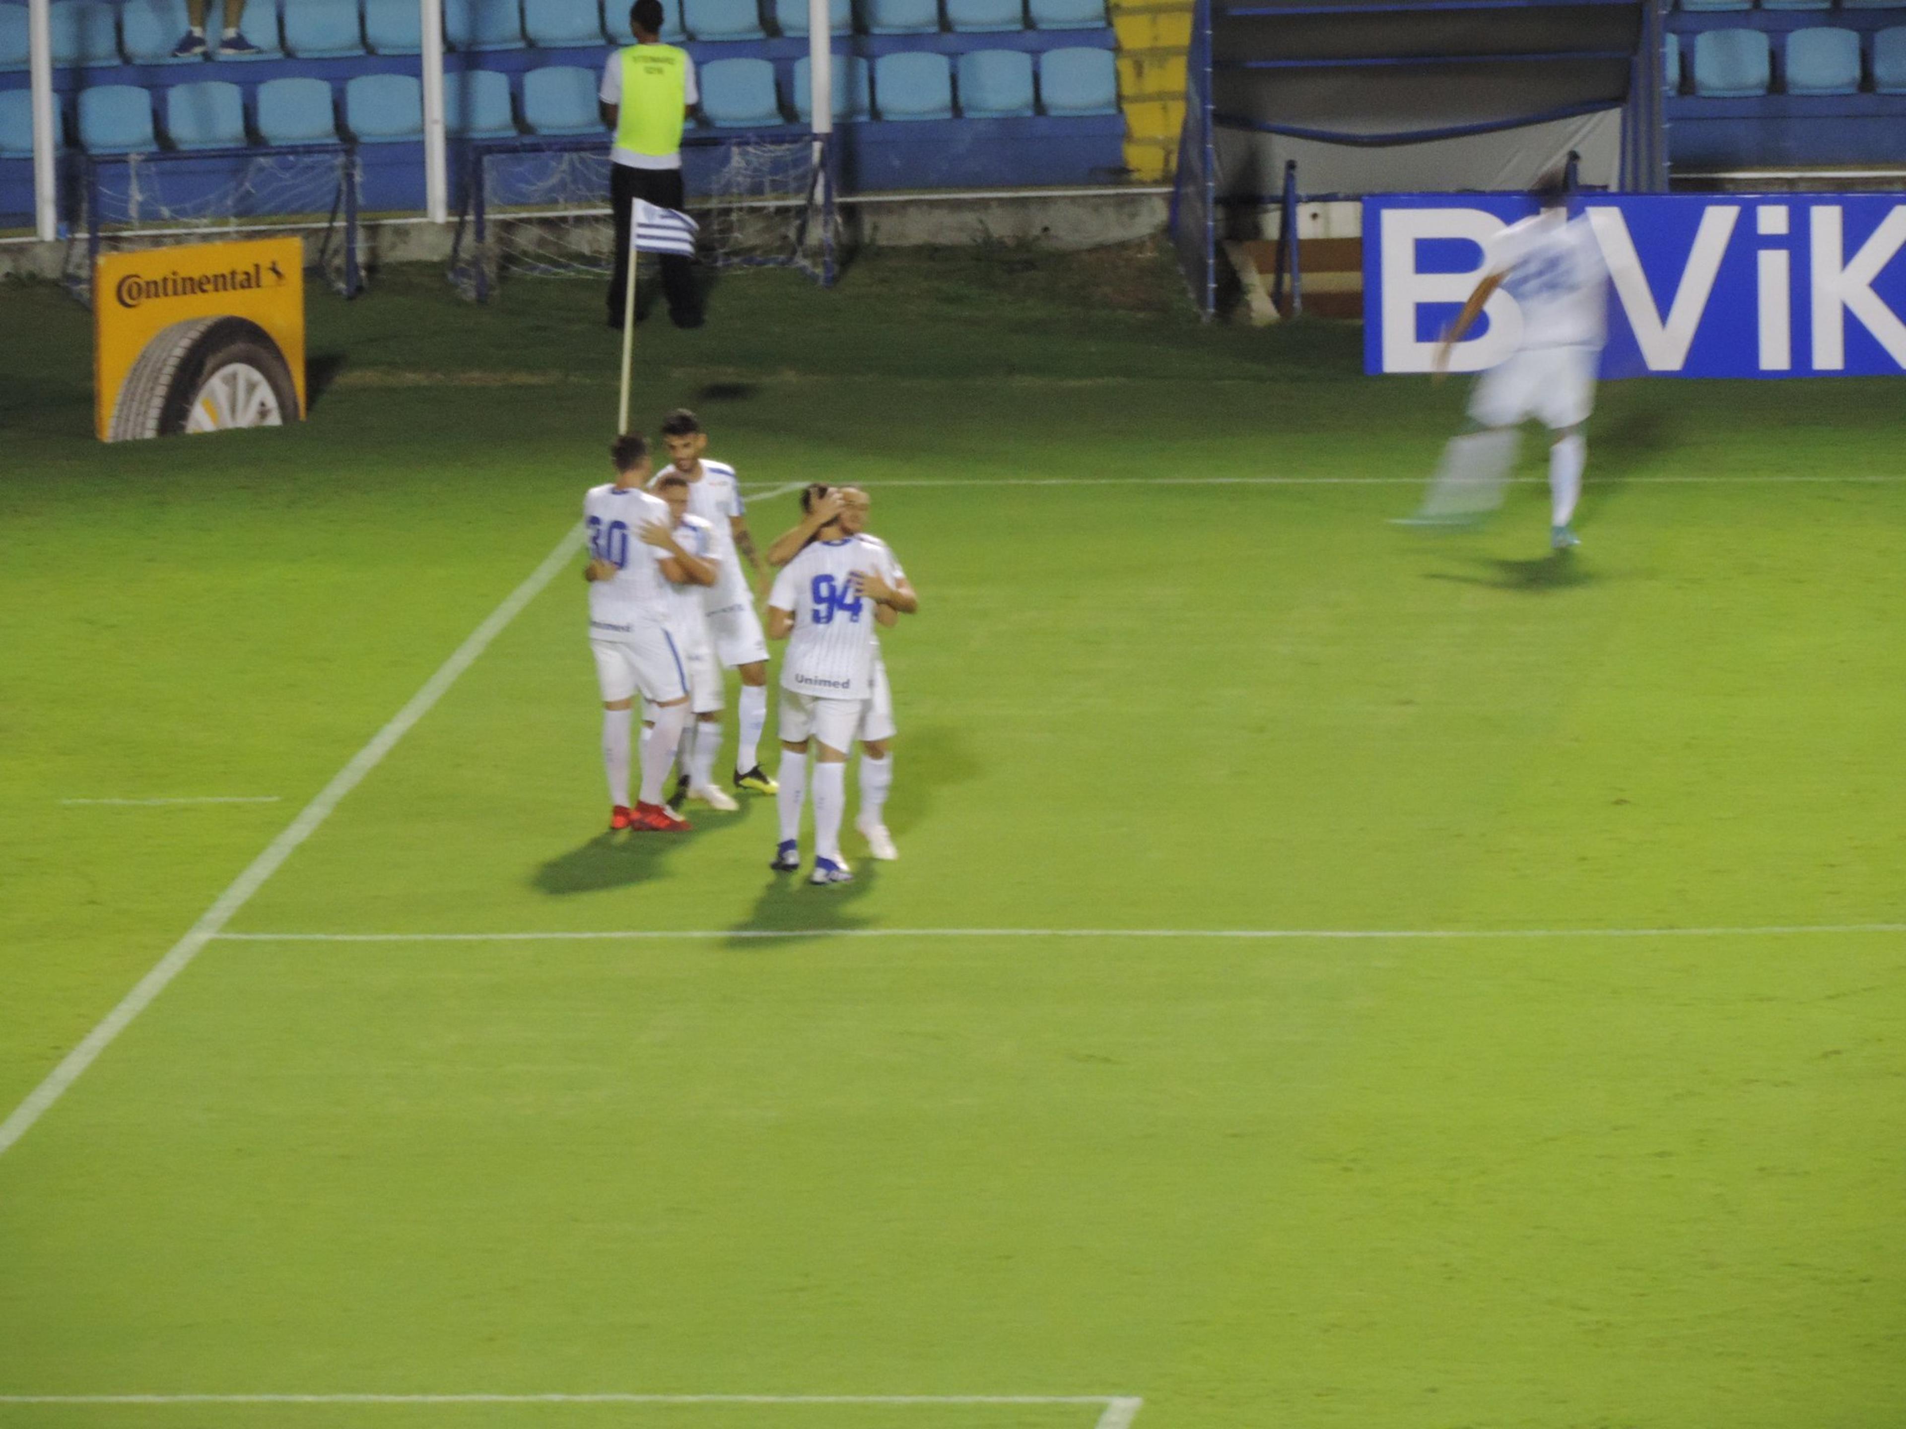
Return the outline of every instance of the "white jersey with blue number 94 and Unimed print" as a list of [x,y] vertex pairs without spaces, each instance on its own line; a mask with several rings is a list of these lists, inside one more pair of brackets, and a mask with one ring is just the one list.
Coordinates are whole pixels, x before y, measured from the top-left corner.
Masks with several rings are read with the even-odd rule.
[[854,591],[854,572],[879,572],[888,583],[905,579],[886,541],[867,533],[814,541],[774,577],[768,604],[795,617],[781,661],[783,690],[829,699],[873,694],[873,600]]

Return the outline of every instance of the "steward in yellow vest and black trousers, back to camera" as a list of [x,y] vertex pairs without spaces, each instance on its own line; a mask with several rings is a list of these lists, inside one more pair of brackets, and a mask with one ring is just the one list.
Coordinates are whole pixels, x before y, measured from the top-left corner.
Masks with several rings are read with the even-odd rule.
[[[608,326],[621,328],[629,292],[629,215],[642,198],[661,208],[682,208],[682,130],[701,101],[696,61],[686,50],[661,44],[661,0],[629,6],[635,44],[618,50],[602,67],[602,122],[614,131],[608,202],[616,215],[616,276],[608,286]],[[701,293],[690,259],[661,255],[661,293],[677,328],[701,326]]]

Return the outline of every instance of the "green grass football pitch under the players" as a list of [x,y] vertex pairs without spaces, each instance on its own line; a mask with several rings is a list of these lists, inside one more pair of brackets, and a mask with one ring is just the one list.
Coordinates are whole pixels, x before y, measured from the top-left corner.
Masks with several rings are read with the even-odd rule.
[[[1172,282],[644,326],[650,425],[865,482],[921,589],[902,861],[600,835],[564,572],[231,930],[703,936],[210,943],[0,1157],[0,1425],[1900,1423],[1898,385],[1607,387],[1551,560],[1536,480],[1386,524],[1460,387]],[[311,423],[105,448],[86,314],[0,293],[0,1115],[576,520],[598,301],[314,295]],[[164,796],[278,802],[69,802]],[[789,1402],[164,1399],[274,1393]],[[101,1395],[160,1399],[30,1402]],[[999,1395],[1083,1399],[934,1399]]]

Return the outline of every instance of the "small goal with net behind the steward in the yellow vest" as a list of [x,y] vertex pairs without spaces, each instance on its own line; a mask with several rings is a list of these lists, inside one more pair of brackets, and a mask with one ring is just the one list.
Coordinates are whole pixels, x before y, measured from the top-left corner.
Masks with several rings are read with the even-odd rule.
[[[789,267],[829,286],[841,227],[827,145],[806,133],[684,141],[700,261]],[[457,292],[480,303],[513,274],[606,276],[616,248],[608,177],[600,139],[476,147],[450,253]]]

